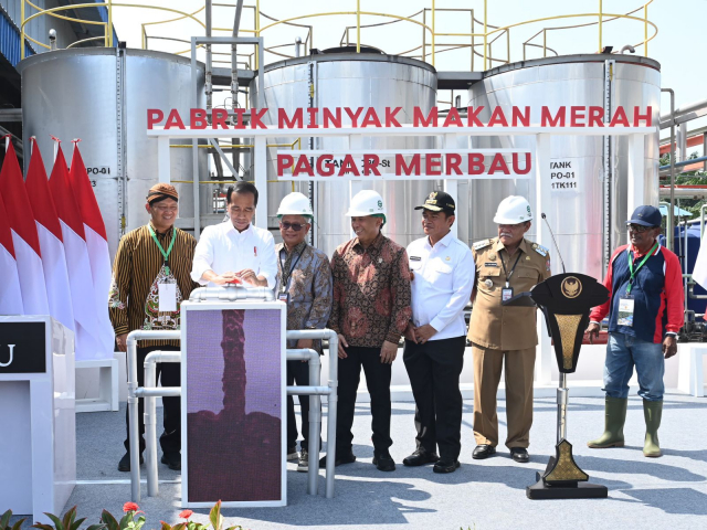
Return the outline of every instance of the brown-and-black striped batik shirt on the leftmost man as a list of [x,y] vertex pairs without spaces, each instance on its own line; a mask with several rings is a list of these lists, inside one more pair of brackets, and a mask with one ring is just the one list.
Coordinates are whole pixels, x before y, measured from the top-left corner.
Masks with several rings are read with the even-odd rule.
[[[194,255],[197,240],[188,233],[170,227],[155,235],[162,248],[169,248],[176,231],[175,246],[169,254],[169,274],[166,274],[165,258],[155,244],[147,225],[133,230],[120,239],[118,252],[113,262],[113,282],[108,295],[108,311],[115,335],[136,329],[179,329],[180,303],[188,300],[192,289],[199,287],[191,280],[189,272]],[[157,284],[177,284],[177,311],[157,311]],[[141,340],[140,347],[179,346],[178,340]]]

